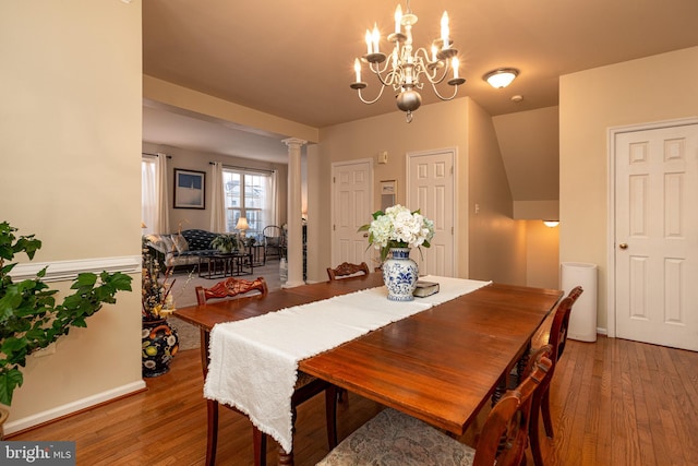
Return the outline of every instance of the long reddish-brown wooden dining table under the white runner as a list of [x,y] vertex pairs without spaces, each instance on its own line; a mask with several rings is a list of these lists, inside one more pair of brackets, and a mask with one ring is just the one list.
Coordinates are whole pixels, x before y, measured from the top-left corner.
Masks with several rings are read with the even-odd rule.
[[[201,328],[206,363],[209,333],[218,323],[380,286],[382,276],[373,273],[182,308],[174,315]],[[503,391],[561,297],[555,289],[489,284],[303,359],[299,369],[461,435]],[[282,464],[292,461],[287,453]]]

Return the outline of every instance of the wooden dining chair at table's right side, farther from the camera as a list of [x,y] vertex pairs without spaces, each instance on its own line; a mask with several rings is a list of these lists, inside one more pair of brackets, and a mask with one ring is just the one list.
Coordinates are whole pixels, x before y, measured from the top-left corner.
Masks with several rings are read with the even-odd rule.
[[547,345],[552,348],[551,361],[553,365],[549,371],[549,377],[541,382],[538,389],[535,389],[535,393],[533,394],[533,402],[531,404],[531,422],[529,425],[531,455],[533,456],[533,464],[535,466],[543,466],[543,455],[541,453],[539,433],[540,417],[543,418],[545,434],[551,439],[553,438],[553,421],[550,414],[550,384],[553,379],[553,374],[555,373],[557,361],[565,350],[571,308],[582,292],[583,288],[577,286],[573,288],[562,301],[559,301],[559,304],[557,306],[555,315],[553,318],[553,323],[550,327]]

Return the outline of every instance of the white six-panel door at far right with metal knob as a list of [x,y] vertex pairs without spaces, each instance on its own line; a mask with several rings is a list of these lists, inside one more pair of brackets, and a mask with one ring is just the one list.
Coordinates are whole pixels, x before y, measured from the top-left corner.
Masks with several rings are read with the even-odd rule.
[[616,336],[698,350],[698,124],[621,132]]

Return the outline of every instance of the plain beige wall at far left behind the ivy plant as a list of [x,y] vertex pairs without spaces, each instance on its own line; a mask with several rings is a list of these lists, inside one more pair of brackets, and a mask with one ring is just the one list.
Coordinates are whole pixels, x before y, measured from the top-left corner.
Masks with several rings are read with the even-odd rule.
[[[0,38],[0,219],[43,240],[35,262],[137,261],[141,2],[1,2]],[[29,357],[7,431],[143,385],[133,276],[134,292],[62,337],[55,355]]]

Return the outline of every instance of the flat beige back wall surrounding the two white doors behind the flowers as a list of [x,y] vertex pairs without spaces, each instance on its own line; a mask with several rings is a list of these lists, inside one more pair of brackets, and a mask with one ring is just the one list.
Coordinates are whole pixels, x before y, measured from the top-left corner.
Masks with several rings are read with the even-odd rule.
[[[467,111],[468,99],[425,105],[414,112],[411,123],[405,113],[395,112],[364,120],[337,124],[321,130],[321,143],[308,147],[309,172],[309,280],[326,279],[325,268],[332,260],[332,164],[337,162],[372,158],[378,152],[388,153],[388,163],[373,166],[373,211],[381,207],[380,180],[397,180],[397,203],[406,203],[405,176],[408,152],[456,147],[457,164],[467,167]],[[459,180],[457,181],[459,182]],[[409,207],[409,206],[408,206]],[[311,241],[317,238],[317,242]],[[366,243],[368,246],[368,243]],[[458,263],[466,263],[467,248],[459,249]]]

